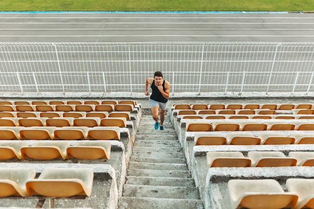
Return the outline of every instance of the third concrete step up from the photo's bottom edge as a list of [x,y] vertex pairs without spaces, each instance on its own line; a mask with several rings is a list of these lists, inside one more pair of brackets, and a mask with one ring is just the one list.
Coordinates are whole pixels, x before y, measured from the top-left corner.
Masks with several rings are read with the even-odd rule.
[[125,184],[195,187],[195,182],[192,178],[174,177],[127,176]]

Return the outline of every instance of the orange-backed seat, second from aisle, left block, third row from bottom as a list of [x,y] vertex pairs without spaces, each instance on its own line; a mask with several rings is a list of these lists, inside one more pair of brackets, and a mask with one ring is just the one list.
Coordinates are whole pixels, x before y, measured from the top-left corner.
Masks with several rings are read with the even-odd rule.
[[65,140],[82,140],[87,139],[88,127],[74,126],[74,127],[61,127],[54,131],[55,139]]

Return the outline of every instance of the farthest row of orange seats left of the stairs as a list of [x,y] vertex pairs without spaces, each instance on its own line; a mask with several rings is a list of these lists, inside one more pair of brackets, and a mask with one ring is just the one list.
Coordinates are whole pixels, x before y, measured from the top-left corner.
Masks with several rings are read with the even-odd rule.
[[136,100],[88,100],[88,101],[0,101],[0,105],[61,105],[61,104],[70,104],[70,105],[79,105],[79,104],[132,104],[137,105]]

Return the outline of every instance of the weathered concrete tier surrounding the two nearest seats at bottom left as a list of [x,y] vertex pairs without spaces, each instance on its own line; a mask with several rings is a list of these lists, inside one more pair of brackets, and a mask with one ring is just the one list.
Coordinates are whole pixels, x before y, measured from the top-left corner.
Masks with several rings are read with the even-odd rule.
[[[26,167],[25,163],[0,163],[0,167]],[[56,207],[72,208],[87,207],[87,208],[105,208],[115,209],[118,202],[118,190],[116,185],[114,169],[111,165],[105,164],[82,164],[82,163],[48,163],[38,164],[30,163],[27,167],[34,168],[39,175],[47,167],[63,167],[63,168],[92,168],[94,172],[94,180],[92,193],[86,199],[56,199]],[[35,207],[38,198],[18,198],[18,199],[0,199],[2,207]],[[48,201],[45,201],[44,208],[48,207]]]

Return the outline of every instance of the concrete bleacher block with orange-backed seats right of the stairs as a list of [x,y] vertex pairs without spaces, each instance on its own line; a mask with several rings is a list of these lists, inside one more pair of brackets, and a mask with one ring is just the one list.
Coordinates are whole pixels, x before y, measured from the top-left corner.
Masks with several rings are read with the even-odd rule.
[[[297,162],[295,158],[297,153],[306,158],[303,153],[311,153],[314,150],[314,141],[311,140],[314,137],[314,129],[311,127],[311,124],[314,123],[312,120],[313,112],[310,109],[312,108],[311,104],[308,104],[308,107],[299,106],[302,108],[302,111],[300,111],[300,109],[295,108],[297,107],[296,104],[282,103],[281,105],[278,103],[276,107],[271,108],[271,113],[265,112],[264,114],[260,114],[260,111],[256,110],[257,108],[254,108],[255,112],[241,113],[245,103],[240,104],[241,109],[234,109],[227,114],[220,114],[220,110],[228,108],[227,104],[217,106],[214,111],[209,110],[209,105],[207,105],[205,114],[199,114],[202,110],[193,108],[193,104],[197,104],[196,102],[188,104],[190,104],[190,108],[188,105],[181,106],[182,108],[185,107],[185,110],[179,110],[173,106],[170,114],[187,158],[189,169],[192,171],[195,183],[199,187],[204,208],[233,208],[234,205],[232,206],[230,201],[228,189],[228,182],[231,179],[271,178],[277,180],[282,189],[286,190],[285,182],[289,178],[314,178],[311,167],[301,166],[300,160]],[[224,105],[224,108],[222,108],[222,105]],[[258,105],[258,108],[261,107],[262,105]],[[199,108],[202,108],[201,105]],[[203,105],[203,108],[206,108],[206,105]],[[233,129],[234,127],[230,126],[228,127],[230,130],[227,128],[227,130],[221,131],[221,128],[216,129],[217,124],[220,123],[236,124],[237,126],[234,127],[237,128]],[[273,126],[274,124],[276,126]],[[304,125],[303,127],[300,126],[301,124],[309,124],[309,126],[304,128]],[[189,129],[189,125],[191,125],[191,129]],[[197,144],[196,139],[202,136],[204,138],[200,141],[200,144]],[[274,141],[270,140],[269,143],[265,143],[265,139],[270,136],[273,136]],[[212,141],[208,142],[207,140],[210,138],[212,138]],[[283,140],[290,141],[285,144],[285,142],[282,142]],[[206,143],[212,143],[212,145],[202,145]],[[224,167],[215,167],[217,164],[211,167],[212,161],[208,161],[207,158],[207,153],[213,155],[214,152],[221,154],[221,152],[235,151],[243,155],[239,159],[244,159],[242,166],[247,167],[236,167],[236,164],[225,167],[235,161],[234,157],[232,160],[226,161],[223,164]],[[282,159],[291,159],[289,165],[292,166],[268,167],[270,166],[268,165],[267,167],[256,167],[256,165],[260,165],[255,162],[256,159],[254,159],[252,153],[259,155],[263,152],[264,154],[270,152],[270,154],[273,154],[275,151],[281,153]],[[209,157],[209,159],[213,159],[213,157]],[[226,157],[226,160],[228,159],[230,158]],[[245,164],[248,161],[249,164]],[[291,208],[291,205],[285,205],[284,207]]]

